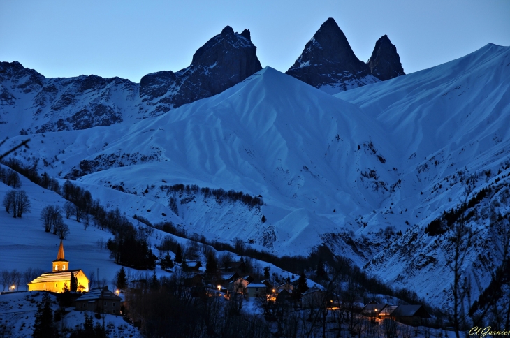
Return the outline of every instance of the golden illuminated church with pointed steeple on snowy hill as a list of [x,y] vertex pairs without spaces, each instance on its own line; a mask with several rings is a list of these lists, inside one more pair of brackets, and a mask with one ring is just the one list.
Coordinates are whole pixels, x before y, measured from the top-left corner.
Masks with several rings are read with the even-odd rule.
[[71,273],[78,281],[78,289],[76,291],[89,291],[89,279],[81,269],[69,270],[69,262],[64,258],[64,244],[60,240],[59,253],[57,259],[53,260],[52,272],[45,272],[41,276],[31,281],[29,291],[52,291],[61,293],[64,284],[71,288]]

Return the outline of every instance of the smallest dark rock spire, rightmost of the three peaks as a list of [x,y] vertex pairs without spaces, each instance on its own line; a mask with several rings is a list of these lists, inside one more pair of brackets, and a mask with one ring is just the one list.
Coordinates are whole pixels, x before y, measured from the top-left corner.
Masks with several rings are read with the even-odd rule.
[[397,47],[391,43],[387,35],[377,40],[367,65],[370,68],[370,73],[382,81],[405,75],[404,68],[400,64]]

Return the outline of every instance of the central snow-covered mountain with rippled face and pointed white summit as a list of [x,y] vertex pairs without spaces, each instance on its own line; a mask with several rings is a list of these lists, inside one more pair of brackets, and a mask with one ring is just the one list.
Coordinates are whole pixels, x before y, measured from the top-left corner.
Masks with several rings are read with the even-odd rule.
[[[182,221],[220,238],[255,242],[275,231],[275,249],[293,254],[319,242],[324,231],[340,230],[360,206],[379,204],[397,181],[386,170],[392,146],[363,112],[272,68],[171,115],[132,126],[33,135],[33,142],[19,155],[26,163],[43,159],[48,166],[41,171],[84,175],[78,182],[106,187],[122,182],[124,191],[138,195],[154,186],[145,196],[166,207],[169,195],[159,187],[178,183],[261,195],[262,210],[210,205],[196,196],[196,207],[186,205],[192,212]],[[210,208],[219,211],[205,212]],[[235,210],[225,217],[228,208]],[[227,224],[224,231],[217,223]],[[230,230],[228,223],[243,226]]]

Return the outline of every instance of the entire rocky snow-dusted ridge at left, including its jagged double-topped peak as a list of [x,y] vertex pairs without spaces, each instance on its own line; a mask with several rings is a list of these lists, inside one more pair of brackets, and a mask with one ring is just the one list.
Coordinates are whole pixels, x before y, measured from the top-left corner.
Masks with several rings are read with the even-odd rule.
[[189,67],[145,75],[140,84],[97,75],[45,78],[19,62],[0,62],[0,133],[133,123],[219,94],[260,70],[249,31],[228,26],[196,51]]

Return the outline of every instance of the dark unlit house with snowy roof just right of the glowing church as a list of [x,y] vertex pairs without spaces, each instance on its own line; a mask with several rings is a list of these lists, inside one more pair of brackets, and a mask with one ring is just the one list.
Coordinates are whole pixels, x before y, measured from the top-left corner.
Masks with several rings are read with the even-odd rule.
[[78,311],[100,311],[105,314],[120,314],[122,298],[112,291],[108,286],[104,288],[93,288],[75,301]]

